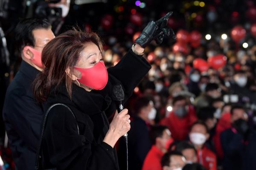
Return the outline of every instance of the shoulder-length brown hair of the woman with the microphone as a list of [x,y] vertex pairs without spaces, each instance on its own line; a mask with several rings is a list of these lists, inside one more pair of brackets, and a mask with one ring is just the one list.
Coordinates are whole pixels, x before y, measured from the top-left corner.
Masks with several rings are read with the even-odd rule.
[[42,63],[46,68],[37,75],[33,83],[35,99],[38,102],[46,101],[50,90],[53,87],[58,88],[61,83],[65,83],[71,99],[73,82],[65,71],[69,68],[70,75],[73,75],[73,67],[89,42],[93,42],[100,51],[103,51],[102,41],[96,33],[75,28],[47,43],[42,51]]

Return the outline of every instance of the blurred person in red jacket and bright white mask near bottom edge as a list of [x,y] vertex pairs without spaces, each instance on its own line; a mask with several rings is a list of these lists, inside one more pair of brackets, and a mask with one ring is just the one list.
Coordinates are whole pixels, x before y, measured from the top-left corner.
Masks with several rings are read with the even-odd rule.
[[190,130],[189,139],[197,150],[198,162],[207,170],[217,170],[215,153],[209,150],[204,143],[209,138],[209,130],[204,122],[195,122]]

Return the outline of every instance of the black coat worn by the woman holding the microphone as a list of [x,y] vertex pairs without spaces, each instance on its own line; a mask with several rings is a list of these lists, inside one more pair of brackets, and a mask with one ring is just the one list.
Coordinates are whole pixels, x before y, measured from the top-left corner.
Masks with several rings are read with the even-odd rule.
[[108,68],[108,84],[103,90],[88,92],[73,85],[71,100],[65,85],[52,90],[44,109],[63,103],[73,111],[77,122],[62,105],[53,107],[49,112],[42,141],[44,168],[118,170],[116,149],[102,142],[109,128],[108,117],[116,110],[111,89],[121,83],[125,99],[128,99],[150,68],[143,57],[129,50],[116,66]]

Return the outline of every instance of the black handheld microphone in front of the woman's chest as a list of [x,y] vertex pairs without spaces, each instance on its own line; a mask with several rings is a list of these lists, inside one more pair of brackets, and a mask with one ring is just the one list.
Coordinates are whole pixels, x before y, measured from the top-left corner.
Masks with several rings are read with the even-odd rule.
[[[112,89],[112,99],[116,102],[117,112],[120,113],[124,106],[123,100],[125,99],[125,93],[122,89],[122,85],[114,85]],[[128,143],[128,134],[125,133],[125,143]]]

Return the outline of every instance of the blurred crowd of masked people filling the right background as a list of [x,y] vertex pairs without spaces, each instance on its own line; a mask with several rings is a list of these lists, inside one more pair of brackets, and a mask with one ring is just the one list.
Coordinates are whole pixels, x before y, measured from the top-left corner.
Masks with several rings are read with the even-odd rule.
[[[244,50],[231,39],[224,46],[221,41],[210,40],[188,54],[154,43],[145,49],[152,68],[126,104],[133,118],[131,170],[187,169],[192,163],[207,170],[255,168],[256,45]],[[106,50],[109,65],[119,60],[116,48],[125,47],[117,43]],[[194,68],[195,59],[216,54],[227,56],[223,67]],[[125,156],[122,143],[120,157]],[[125,165],[125,157],[119,165]]]

